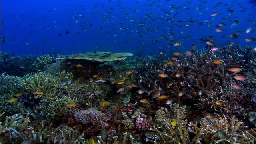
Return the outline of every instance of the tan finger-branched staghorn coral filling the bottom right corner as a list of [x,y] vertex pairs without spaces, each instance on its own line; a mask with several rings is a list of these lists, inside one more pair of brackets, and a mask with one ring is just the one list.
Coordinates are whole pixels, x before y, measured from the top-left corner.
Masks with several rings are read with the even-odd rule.
[[[198,122],[190,122],[188,130],[194,134],[194,138],[190,143],[201,142],[228,142],[228,143],[240,143],[240,144],[254,144],[256,141],[256,128],[248,129],[247,126],[243,126],[244,122],[241,122],[232,116],[227,118],[224,114],[222,117],[209,120],[202,118],[201,126],[198,126]],[[220,130],[226,134],[224,138],[219,138],[216,135],[216,131]]]

